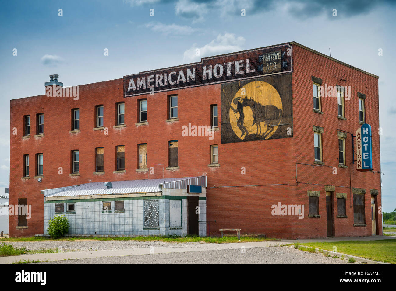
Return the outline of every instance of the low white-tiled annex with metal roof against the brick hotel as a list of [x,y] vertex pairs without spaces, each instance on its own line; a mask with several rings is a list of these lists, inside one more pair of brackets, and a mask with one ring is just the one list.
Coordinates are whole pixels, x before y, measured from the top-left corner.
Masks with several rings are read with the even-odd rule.
[[206,236],[206,176],[95,182],[46,189],[48,221],[66,215],[69,234]]

